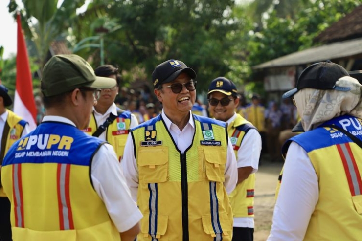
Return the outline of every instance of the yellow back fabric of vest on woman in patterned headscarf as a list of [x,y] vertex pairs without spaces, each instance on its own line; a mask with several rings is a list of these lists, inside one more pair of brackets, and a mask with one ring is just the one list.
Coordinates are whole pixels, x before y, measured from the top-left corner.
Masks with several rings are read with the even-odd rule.
[[[360,147],[355,143],[350,143],[350,147],[361,173],[362,164],[357,161],[362,158]],[[351,196],[337,147],[313,150],[308,156],[318,176],[319,199],[304,240],[359,240],[362,197]]]

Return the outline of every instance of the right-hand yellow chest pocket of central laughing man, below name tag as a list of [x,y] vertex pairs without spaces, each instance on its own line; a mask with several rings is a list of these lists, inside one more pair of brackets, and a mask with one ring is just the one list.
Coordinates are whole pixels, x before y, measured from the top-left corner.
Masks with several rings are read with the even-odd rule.
[[226,151],[224,148],[204,148],[205,171],[210,181],[225,181]]

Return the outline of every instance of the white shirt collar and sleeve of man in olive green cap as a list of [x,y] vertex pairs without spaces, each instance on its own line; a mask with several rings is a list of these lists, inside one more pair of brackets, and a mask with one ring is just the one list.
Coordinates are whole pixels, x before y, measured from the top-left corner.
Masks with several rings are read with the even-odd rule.
[[[45,121],[75,126],[71,120],[61,116],[48,115],[42,122]],[[142,214],[131,198],[117,156],[109,143],[101,145],[94,154],[91,163],[91,179],[95,192],[104,202],[119,232],[127,231],[139,222]]]

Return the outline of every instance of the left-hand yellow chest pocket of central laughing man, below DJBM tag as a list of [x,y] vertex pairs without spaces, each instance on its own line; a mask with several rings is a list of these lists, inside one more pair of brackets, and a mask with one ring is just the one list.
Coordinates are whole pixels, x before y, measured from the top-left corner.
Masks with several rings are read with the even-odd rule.
[[137,155],[139,183],[167,181],[167,147],[140,147]]

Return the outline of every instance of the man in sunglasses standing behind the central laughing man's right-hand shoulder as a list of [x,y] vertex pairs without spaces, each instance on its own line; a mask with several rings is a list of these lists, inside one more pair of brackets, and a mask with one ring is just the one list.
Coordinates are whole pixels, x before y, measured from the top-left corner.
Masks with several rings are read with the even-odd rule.
[[232,241],[252,241],[255,173],[259,166],[261,137],[249,121],[235,112],[239,96],[231,80],[225,77],[214,79],[207,98],[212,116],[228,124],[227,132],[237,159],[238,181],[229,195],[234,215]]

